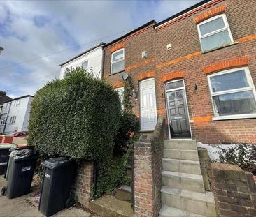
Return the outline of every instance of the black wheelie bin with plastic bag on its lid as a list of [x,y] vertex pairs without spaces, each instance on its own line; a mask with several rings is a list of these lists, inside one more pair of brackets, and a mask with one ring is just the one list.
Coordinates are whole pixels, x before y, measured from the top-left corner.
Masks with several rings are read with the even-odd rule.
[[30,192],[37,158],[34,149],[17,148],[10,153],[6,197],[11,199]]

